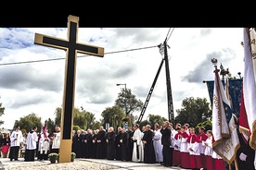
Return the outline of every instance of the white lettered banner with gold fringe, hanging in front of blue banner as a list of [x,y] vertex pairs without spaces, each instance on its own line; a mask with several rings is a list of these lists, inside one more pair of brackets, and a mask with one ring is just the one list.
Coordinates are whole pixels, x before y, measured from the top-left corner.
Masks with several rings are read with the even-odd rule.
[[227,164],[232,164],[240,144],[237,136],[236,115],[233,115],[228,99],[229,95],[224,91],[218,71],[215,69],[212,100],[212,135],[215,141],[212,143],[212,150],[217,152]]

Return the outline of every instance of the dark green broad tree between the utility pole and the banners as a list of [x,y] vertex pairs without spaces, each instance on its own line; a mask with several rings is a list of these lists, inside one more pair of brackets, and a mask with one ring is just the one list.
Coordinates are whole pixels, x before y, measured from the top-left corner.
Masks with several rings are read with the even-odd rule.
[[189,124],[189,127],[194,127],[198,123],[206,120],[211,120],[211,108],[210,103],[207,102],[206,98],[189,97],[183,100],[182,107],[180,110],[177,109],[177,116],[175,122],[184,125]]

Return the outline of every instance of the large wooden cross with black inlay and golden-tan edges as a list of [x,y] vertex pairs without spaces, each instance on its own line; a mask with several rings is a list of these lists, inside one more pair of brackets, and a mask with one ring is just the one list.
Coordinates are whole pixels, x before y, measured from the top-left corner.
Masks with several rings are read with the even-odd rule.
[[65,50],[67,52],[60,124],[61,135],[59,147],[59,163],[70,163],[77,58],[76,55],[77,53],[82,53],[86,55],[96,55],[101,57],[104,56],[104,48],[77,42],[78,20],[78,17],[71,15],[69,16],[67,40],[58,39],[38,33],[35,33],[34,37],[35,44],[50,46]]

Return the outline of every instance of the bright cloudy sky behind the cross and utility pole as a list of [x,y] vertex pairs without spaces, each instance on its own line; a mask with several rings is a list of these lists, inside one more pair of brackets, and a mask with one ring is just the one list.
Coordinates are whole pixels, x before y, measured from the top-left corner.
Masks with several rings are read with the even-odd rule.
[[[35,33],[67,39],[67,28],[0,28],[0,103],[6,108],[1,128],[32,113],[53,119],[62,104],[66,52],[34,44]],[[214,79],[212,58],[232,76],[243,76],[242,28],[79,28],[78,42],[103,47],[105,55],[77,55],[74,106],[99,120],[124,88],[117,83],[126,83],[145,102],[163,57],[158,45],[165,39],[174,116],[187,97],[209,100],[203,80]],[[143,119],[149,114],[168,118],[164,65]]]

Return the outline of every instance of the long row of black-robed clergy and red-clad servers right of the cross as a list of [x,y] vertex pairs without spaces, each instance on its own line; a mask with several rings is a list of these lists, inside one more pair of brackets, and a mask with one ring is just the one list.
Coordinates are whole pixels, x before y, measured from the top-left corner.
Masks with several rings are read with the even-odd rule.
[[132,161],[146,164],[161,164],[166,167],[179,166],[186,169],[225,170],[224,160],[212,151],[211,130],[189,128],[165,121],[134,128],[113,127],[105,130],[77,130],[73,132],[72,152],[79,158]]

